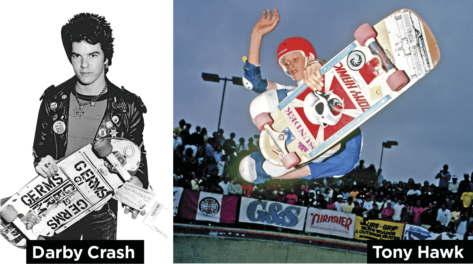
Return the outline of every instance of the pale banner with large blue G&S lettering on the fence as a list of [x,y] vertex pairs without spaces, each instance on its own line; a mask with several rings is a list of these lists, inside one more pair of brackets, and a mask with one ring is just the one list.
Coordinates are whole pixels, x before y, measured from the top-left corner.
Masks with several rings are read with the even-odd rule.
[[239,221],[302,230],[306,213],[307,207],[242,197]]

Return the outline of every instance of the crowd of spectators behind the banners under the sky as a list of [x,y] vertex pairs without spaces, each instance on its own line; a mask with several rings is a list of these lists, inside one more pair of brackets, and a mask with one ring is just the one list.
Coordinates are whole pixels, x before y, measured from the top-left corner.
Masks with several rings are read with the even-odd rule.
[[468,174],[459,181],[447,165],[433,178],[439,180],[437,186],[414,179],[388,181],[381,169],[373,164],[365,167],[363,160],[340,178],[272,179],[255,185],[238,174],[241,159],[258,151],[253,138],[247,145],[244,138],[236,144],[235,133],[225,139],[220,129],[210,137],[205,128],[197,127],[191,134],[184,119],[179,124],[173,131],[175,186],[405,222],[465,239],[472,235],[473,182]]

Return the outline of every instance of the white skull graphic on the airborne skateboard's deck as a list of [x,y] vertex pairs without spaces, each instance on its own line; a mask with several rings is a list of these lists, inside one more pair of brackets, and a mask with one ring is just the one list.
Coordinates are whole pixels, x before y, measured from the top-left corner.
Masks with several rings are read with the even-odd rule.
[[344,103],[342,99],[332,91],[322,93],[320,91],[307,94],[304,99],[304,113],[310,122],[316,125],[335,125],[342,118],[342,113],[333,111],[343,109]]

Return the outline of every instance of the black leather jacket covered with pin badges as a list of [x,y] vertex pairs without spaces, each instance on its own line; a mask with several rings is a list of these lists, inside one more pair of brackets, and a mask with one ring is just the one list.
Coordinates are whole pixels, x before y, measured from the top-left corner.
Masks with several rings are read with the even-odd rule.
[[[41,106],[38,111],[35,139],[33,143],[33,166],[35,167],[41,158],[51,155],[55,160],[65,156],[68,138],[68,118],[70,94],[74,90],[77,78],[74,76],[61,85],[49,86],[41,96]],[[119,88],[105,77],[108,89],[105,93],[107,106],[101,125],[96,132],[95,140],[100,137],[123,137],[133,141],[141,149],[141,165],[135,176],[143,183],[143,188],[148,188],[148,164],[146,151],[143,145],[143,114],[146,107],[141,98],[130,93],[123,87]],[[118,117],[118,121],[114,116]],[[61,123],[62,122],[62,123]],[[105,124],[112,122],[117,134],[104,133],[109,131]],[[54,128],[54,124],[61,124],[63,131]],[[105,130],[104,130],[105,129]],[[100,131],[102,130],[102,131]],[[61,133],[62,132],[62,133]],[[105,134],[105,135],[104,135]],[[116,204],[116,203],[110,203]],[[111,206],[112,207],[112,206]],[[116,208],[116,205],[113,206]],[[114,209],[112,208],[112,210]],[[116,213],[116,209],[113,210]]]

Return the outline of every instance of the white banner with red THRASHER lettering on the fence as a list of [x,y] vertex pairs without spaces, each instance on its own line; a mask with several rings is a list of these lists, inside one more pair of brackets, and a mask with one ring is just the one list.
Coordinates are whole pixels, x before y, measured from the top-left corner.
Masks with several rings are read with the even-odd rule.
[[306,231],[353,238],[355,214],[310,207],[307,211]]

